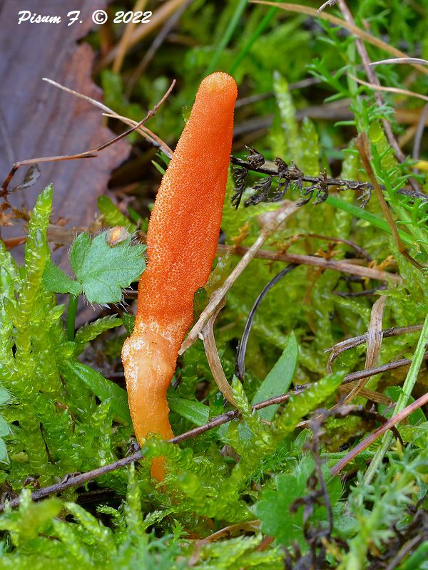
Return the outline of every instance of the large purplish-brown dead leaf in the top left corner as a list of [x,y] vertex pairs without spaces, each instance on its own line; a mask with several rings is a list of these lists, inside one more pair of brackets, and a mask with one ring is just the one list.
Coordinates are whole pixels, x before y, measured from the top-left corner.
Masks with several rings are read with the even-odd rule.
[[[25,9],[36,14],[61,16],[61,24],[17,24],[14,0],[0,7],[0,179],[12,162],[32,157],[71,155],[96,147],[112,138],[103,117],[90,103],[61,93],[41,80],[44,76],[100,99],[101,90],[91,80],[93,51],[76,42],[93,26],[91,14],[106,7],[103,0],[76,0],[81,24],[67,26],[71,8],[54,0],[32,0]],[[128,156],[130,147],[121,140],[98,157],[87,160],[47,162],[41,177],[31,187],[10,195],[14,205],[31,208],[36,195],[54,184],[54,219],[65,217],[71,224],[85,226],[93,219],[96,199],[107,186],[113,168]],[[11,186],[25,175],[19,171]],[[9,233],[9,236],[11,234]]]

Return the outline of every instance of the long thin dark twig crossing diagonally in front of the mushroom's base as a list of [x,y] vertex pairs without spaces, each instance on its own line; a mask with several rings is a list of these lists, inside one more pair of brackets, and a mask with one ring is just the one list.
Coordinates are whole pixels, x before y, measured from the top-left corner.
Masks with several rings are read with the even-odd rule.
[[[424,354],[424,359],[428,359],[428,352]],[[347,374],[343,383],[350,383],[354,382],[355,380],[360,380],[360,378],[366,378],[367,376],[372,376],[375,374],[379,374],[382,372],[387,372],[390,370],[394,370],[394,368],[401,368],[402,366],[409,366],[412,361],[409,361],[408,358],[402,358],[399,361],[389,362],[387,364],[383,364],[382,366],[376,366],[375,368],[370,368],[365,371],[358,371],[353,372],[351,374]],[[292,394],[299,394],[303,392],[306,388],[309,388],[310,384],[302,384],[295,386],[294,390],[286,394],[282,394],[280,396],[275,396],[275,398],[269,398],[269,400],[265,400],[258,404],[252,406],[253,410],[261,410],[262,408],[267,408],[269,405],[275,404],[282,404],[285,403]],[[208,423],[204,425],[200,425],[198,427],[194,427],[193,430],[188,430],[188,432],[181,433],[180,435],[175,435],[175,437],[171,437],[168,440],[170,443],[180,443],[186,440],[190,440],[192,437],[196,437],[197,435],[201,435],[209,430],[213,430],[215,427],[219,427],[225,423],[228,423],[232,420],[237,420],[240,417],[240,413],[238,410],[230,410],[230,412],[225,412],[224,414],[220,414],[210,420]],[[109,463],[108,465],[103,465],[102,467],[97,467],[91,471],[86,471],[85,473],[77,473],[72,475],[66,475],[63,477],[63,480],[59,483],[55,483],[53,485],[49,485],[48,487],[43,487],[41,489],[37,489],[31,494],[31,499],[34,501],[39,501],[40,499],[45,499],[49,497],[51,494],[58,494],[66,489],[70,489],[71,487],[80,487],[84,483],[88,481],[92,481],[97,479],[98,477],[102,477],[107,473],[111,473],[112,471],[116,471],[121,467],[125,467],[130,463],[134,463],[144,458],[144,453],[142,450],[138,450],[131,455],[127,455],[122,459],[114,461],[113,463]],[[7,503],[4,502],[0,504],[0,512],[4,511],[6,504],[11,509],[14,509],[19,506],[19,497],[8,501]]]

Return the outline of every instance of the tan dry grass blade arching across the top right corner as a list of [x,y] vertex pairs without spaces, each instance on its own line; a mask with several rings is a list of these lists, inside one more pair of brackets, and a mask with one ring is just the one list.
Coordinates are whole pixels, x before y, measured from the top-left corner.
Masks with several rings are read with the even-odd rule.
[[[383,49],[387,53],[391,53],[392,56],[396,56],[397,58],[407,57],[407,53],[404,53],[404,51],[394,48],[393,46],[389,46],[384,41],[379,40],[379,38],[375,38],[374,36],[372,36],[371,33],[368,33],[367,31],[364,31],[361,28],[358,28],[357,26],[349,24],[348,22],[345,22],[345,20],[341,20],[336,16],[332,16],[327,12],[321,12],[320,14],[318,14],[315,9],[310,8],[309,6],[302,6],[302,4],[289,4],[287,2],[270,2],[267,0],[250,0],[250,1],[252,4],[265,4],[266,6],[276,6],[277,8],[280,8],[282,10],[297,12],[297,14],[306,14],[307,16],[313,16],[314,18],[321,18],[322,20],[327,20],[331,24],[335,24],[336,26],[342,26],[342,28],[346,28],[351,33],[355,33],[355,36],[362,38],[368,43],[371,43],[372,46],[376,46],[377,48]],[[419,66],[419,63],[412,63],[412,66],[414,68],[417,68],[417,70],[421,71],[422,73],[428,74],[428,69],[424,68],[423,66]]]

